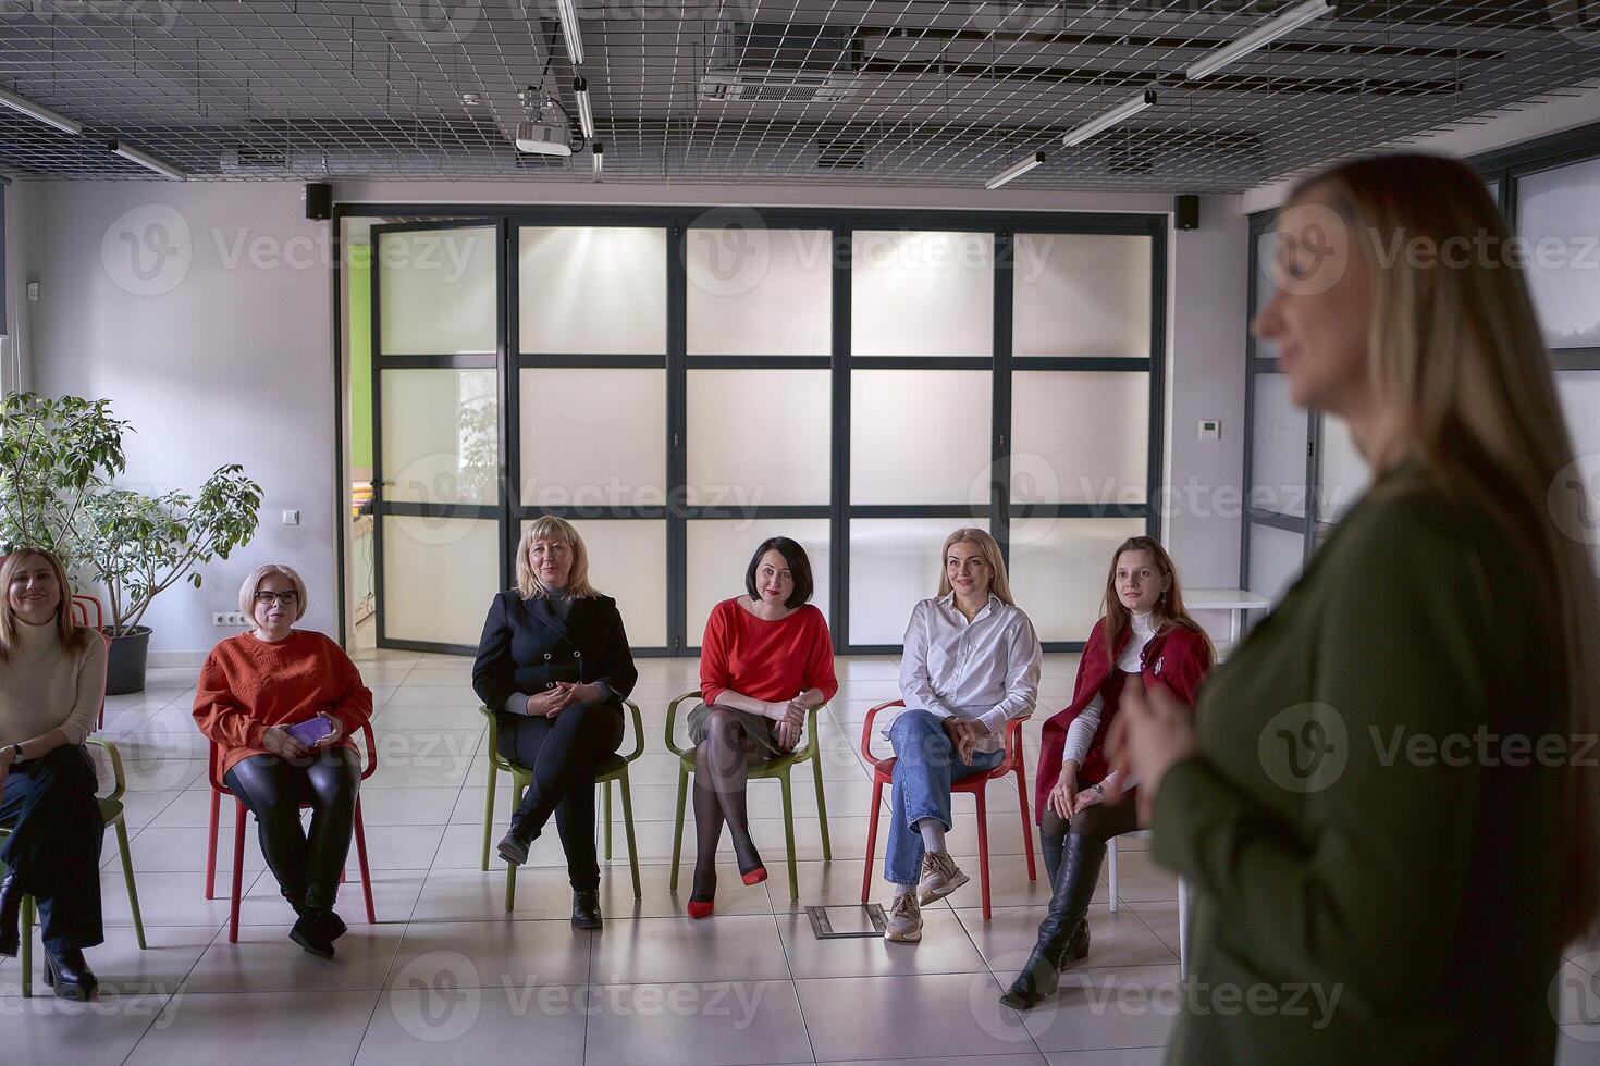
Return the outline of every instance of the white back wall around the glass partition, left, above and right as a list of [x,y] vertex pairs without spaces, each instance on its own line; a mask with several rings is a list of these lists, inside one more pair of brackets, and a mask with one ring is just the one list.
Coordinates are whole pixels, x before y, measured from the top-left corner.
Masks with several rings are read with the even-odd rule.
[[[149,615],[152,649],[192,657],[226,633],[210,612],[232,609],[259,561],[299,567],[312,588],[310,628],[336,631],[334,537],[342,531],[333,428],[333,312],[328,224],[304,221],[296,184],[35,182],[38,233],[27,268],[43,286],[30,308],[34,384],[50,393],[109,396],[138,427],[130,481],[194,487],[214,467],[243,462],[266,487],[256,540],[205,571],[195,591],[173,588]],[[723,203],[829,208],[994,208],[1005,211],[1168,213],[1163,193],[928,192],[907,189],[744,189],[693,185],[528,185],[349,182],[336,200],[365,203]],[[165,208],[165,209],[163,209]],[[130,211],[138,214],[126,216]],[[126,217],[125,217],[126,216]],[[187,248],[154,270],[130,270],[130,240],[150,224]],[[1235,585],[1238,518],[1211,507],[1240,481],[1246,235],[1237,198],[1208,198],[1202,229],[1176,233],[1170,256],[1168,481],[1195,479],[1200,510],[1179,497],[1170,540],[1190,587]],[[131,233],[131,237],[123,237]],[[160,235],[154,233],[152,240]],[[160,241],[157,241],[160,243]],[[179,276],[181,275],[181,276]],[[168,288],[146,294],[144,289]],[[1202,417],[1221,441],[1198,441]],[[299,508],[302,524],[278,524]],[[160,660],[158,660],[160,662]]]

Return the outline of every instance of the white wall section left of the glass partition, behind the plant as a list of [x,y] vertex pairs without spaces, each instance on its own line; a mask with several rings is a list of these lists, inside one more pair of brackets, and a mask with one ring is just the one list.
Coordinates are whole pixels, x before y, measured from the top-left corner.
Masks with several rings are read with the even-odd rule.
[[[264,561],[294,566],[310,590],[302,625],[334,631],[331,275],[326,224],[304,219],[299,185],[18,187],[34,200],[22,256],[42,291],[27,305],[34,387],[114,401],[138,430],[128,484],[194,491],[240,462],[266,491],[246,548],[205,567],[203,588],[157,598],[152,652],[230,634],[210,615],[237,611]],[[280,524],[285,508],[299,526]]]

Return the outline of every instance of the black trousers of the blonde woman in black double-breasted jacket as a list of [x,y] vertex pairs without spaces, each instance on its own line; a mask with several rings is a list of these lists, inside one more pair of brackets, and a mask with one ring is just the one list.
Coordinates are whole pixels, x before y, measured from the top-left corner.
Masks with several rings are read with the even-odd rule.
[[573,889],[600,887],[595,858],[595,774],[605,756],[622,746],[622,708],[613,702],[574,703],[555,718],[496,714],[498,750],[515,766],[533,770],[517,809],[534,829],[555,815],[566,852],[566,876]]

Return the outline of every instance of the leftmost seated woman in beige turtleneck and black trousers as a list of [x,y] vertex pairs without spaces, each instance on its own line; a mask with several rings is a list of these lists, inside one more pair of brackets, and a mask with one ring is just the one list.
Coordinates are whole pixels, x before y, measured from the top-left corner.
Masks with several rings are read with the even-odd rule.
[[106,641],[72,623],[67,575],[48,551],[0,566],[0,954],[21,945],[22,895],[38,901],[45,977],[56,996],[88,999],[83,949],[101,933],[99,852],[106,823],[83,742],[106,697]]

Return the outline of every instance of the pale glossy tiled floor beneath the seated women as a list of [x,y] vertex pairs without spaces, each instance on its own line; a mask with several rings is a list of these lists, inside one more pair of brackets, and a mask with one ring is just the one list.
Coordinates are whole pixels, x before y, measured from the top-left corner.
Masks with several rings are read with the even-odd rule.
[[[0,959],[0,1061],[298,1066],[458,1063],[1155,1063],[1178,980],[1176,881],[1142,839],[1122,844],[1114,914],[1102,884],[1090,921],[1094,949],[1078,983],[1026,1021],[998,1005],[1032,943],[1048,898],[1027,881],[1018,796],[990,785],[994,917],[982,921],[973,807],[957,798],[949,842],[973,882],[925,911],[922,945],[813,937],[806,905],[830,905],[835,927],[861,921],[870,778],[856,753],[874,703],[896,697],[888,658],[842,658],[842,687],[821,727],[834,861],[822,861],[810,775],[795,778],[797,874],[792,903],[782,805],[774,783],[750,788],[750,817],[771,881],[739,884],[726,837],[717,916],[683,917],[693,865],[685,839],[680,890],[670,893],[675,759],[661,729],[667,702],[696,684],[693,660],[642,660],[634,694],[645,756],[632,767],[643,898],[632,898],[616,804],[614,855],[602,861],[606,927],[576,932],[554,828],[534,842],[504,913],[504,866],[478,869],[483,842],[485,726],[469,660],[365,650],[357,657],[378,702],[379,770],[362,791],[378,924],[350,882],[339,909],[350,933],[323,962],[286,940],[293,914],[277,895],[251,828],[237,945],[227,901],[203,897],[208,785],[205,745],[189,716],[194,671],[152,670],[149,689],[112,697],[104,735],[122,751],[128,823],[149,949],[134,943],[114,837],[102,892],[107,943],[90,959],[101,997],[74,1005],[21,997],[18,962]],[[1067,702],[1075,657],[1046,657],[1042,705]],[[1029,772],[1038,727],[1027,724]],[[682,738],[680,738],[682,740]],[[882,746],[882,742],[878,742]],[[102,778],[107,780],[107,778]],[[507,815],[496,802],[496,836]],[[222,839],[232,810],[224,805]],[[880,826],[878,855],[883,849]],[[1037,839],[1035,839],[1037,847]],[[221,847],[218,887],[230,884]],[[1104,881],[1104,877],[1102,877]],[[874,898],[885,885],[874,873]],[[35,953],[35,959],[37,959]],[[1574,956],[1574,986],[1597,965]],[[37,965],[37,962],[35,962]],[[1126,989],[1126,991],[1125,991]],[[1563,1007],[1578,1021],[1581,1005]],[[1600,1061],[1600,1026],[1563,1029],[1563,1061]]]

